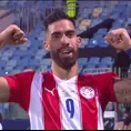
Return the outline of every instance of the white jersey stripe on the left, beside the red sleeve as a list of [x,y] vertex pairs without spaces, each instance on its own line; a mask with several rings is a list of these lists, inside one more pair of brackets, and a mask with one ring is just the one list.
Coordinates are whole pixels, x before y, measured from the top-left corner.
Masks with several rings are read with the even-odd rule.
[[30,94],[29,118],[31,130],[43,130],[42,74],[36,72]]

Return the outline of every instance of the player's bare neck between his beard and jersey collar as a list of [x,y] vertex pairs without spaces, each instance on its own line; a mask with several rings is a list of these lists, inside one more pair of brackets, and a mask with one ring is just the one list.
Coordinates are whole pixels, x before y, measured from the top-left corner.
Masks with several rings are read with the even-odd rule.
[[52,62],[52,72],[54,73],[54,75],[57,75],[58,78],[60,78],[62,80],[69,80],[71,78],[78,75],[78,73],[79,73],[78,62],[75,62],[75,64],[73,67],[71,67],[71,69],[69,69],[69,70],[62,69],[61,67],[59,67],[58,64]]

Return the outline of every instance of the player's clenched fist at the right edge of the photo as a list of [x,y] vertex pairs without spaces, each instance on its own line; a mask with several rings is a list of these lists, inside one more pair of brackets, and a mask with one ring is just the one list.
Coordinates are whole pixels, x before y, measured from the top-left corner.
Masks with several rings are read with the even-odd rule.
[[117,50],[127,51],[131,48],[131,39],[125,29],[117,29],[110,31],[104,39]]

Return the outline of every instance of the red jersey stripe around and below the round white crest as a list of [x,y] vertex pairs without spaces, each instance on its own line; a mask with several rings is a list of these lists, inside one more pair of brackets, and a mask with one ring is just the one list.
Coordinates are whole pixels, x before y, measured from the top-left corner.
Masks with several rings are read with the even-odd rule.
[[81,102],[81,114],[82,114],[82,129],[83,130],[97,130],[98,129],[98,108],[95,97],[92,99],[85,99],[82,97],[80,90],[83,87],[90,87],[94,89],[94,81],[91,75],[79,75],[78,77],[78,91]]

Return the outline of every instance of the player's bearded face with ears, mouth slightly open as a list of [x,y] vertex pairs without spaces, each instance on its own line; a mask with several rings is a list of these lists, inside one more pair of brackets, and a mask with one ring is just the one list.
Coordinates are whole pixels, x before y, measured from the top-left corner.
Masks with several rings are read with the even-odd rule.
[[70,69],[77,62],[80,43],[71,21],[63,19],[48,27],[46,47],[59,67]]

